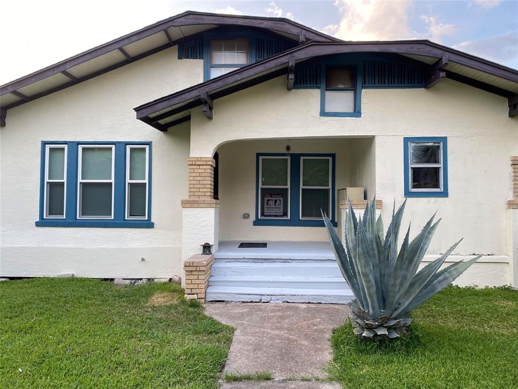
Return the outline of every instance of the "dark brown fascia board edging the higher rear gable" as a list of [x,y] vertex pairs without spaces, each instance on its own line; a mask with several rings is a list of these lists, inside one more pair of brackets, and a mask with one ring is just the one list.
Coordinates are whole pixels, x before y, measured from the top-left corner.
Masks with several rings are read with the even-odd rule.
[[[169,27],[179,27],[192,24],[232,24],[240,26],[260,27],[264,29],[277,30],[297,36],[300,35],[300,33],[304,32],[306,34],[306,37],[314,40],[338,40],[318,31],[312,30],[309,27],[306,27],[302,24],[284,18],[261,18],[252,16],[220,15],[218,13],[186,11],[180,13],[179,15],[151,24],[147,27],[143,27],[143,29],[134,31],[130,34],[123,35],[117,39],[110,40],[109,42],[103,45],[94,47],[93,49],[74,55],[74,57],[70,57],[66,60],[57,62],[53,65],[42,68],[41,70],[38,70],[34,73],[7,82],[7,84],[0,86],[0,95],[9,93],[10,91],[19,88],[23,88],[27,85],[33,84],[36,81],[50,77],[62,71],[66,71],[70,67],[89,61],[91,59],[99,57],[99,55],[106,54],[110,51],[118,50],[119,48],[122,48],[123,46],[131,44],[137,40],[167,30]],[[127,63],[127,61],[125,62]]]

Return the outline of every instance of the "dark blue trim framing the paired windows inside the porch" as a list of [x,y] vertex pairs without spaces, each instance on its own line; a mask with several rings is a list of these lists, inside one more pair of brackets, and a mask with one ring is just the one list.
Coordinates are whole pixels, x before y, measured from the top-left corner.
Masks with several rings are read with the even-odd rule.
[[[331,223],[337,227],[336,219],[336,154],[298,154],[291,153],[290,161],[290,219],[260,219],[259,218],[259,161],[260,157],[285,157],[282,152],[258,152],[255,155],[255,220],[254,226],[284,226],[284,227],[324,227],[322,220],[300,219],[300,160],[301,157],[330,157],[331,158]],[[293,212],[296,210],[296,212]]]

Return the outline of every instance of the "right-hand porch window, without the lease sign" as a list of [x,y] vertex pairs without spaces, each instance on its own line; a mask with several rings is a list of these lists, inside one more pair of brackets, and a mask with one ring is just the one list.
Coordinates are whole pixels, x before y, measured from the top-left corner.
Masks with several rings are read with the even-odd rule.
[[300,158],[300,218],[322,219],[331,214],[331,158]]

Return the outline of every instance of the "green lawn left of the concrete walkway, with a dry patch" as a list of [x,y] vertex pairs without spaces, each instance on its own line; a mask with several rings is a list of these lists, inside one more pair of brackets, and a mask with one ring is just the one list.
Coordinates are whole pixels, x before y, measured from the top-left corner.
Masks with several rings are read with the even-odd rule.
[[0,283],[2,388],[215,388],[232,327],[175,284]]

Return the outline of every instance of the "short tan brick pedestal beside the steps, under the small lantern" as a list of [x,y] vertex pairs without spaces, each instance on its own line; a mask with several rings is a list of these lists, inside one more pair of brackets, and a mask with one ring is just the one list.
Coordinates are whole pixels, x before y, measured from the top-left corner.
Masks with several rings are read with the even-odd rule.
[[183,262],[185,271],[185,298],[205,302],[205,293],[209,284],[210,267],[213,255],[193,255]]

